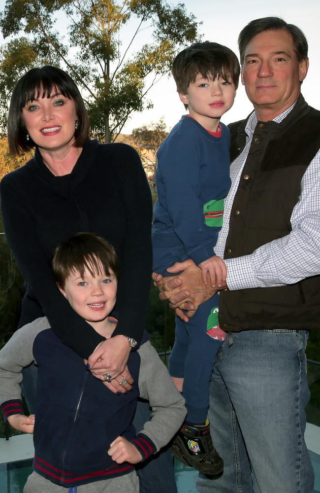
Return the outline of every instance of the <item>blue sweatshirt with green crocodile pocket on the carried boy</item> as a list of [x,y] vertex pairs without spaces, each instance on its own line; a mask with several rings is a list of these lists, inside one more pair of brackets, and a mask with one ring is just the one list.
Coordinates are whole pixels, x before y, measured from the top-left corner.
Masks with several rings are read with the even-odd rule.
[[160,145],[152,230],[156,272],[163,274],[167,262],[190,257],[199,264],[215,254],[231,185],[230,135],[220,125],[222,135],[214,137],[183,116]]

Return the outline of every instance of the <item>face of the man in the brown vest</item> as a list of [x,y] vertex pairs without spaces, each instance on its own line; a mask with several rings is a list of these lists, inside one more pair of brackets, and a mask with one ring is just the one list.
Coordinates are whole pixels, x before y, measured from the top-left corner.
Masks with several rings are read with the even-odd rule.
[[264,31],[252,38],[245,50],[241,80],[258,119],[272,120],[293,105],[308,59],[297,61],[288,31]]

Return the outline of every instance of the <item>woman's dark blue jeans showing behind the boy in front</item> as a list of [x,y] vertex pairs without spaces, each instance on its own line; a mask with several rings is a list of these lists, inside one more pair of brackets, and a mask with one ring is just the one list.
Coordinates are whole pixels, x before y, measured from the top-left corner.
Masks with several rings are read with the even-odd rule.
[[[23,370],[24,396],[30,412],[33,413],[35,411],[36,377],[37,368],[34,364]],[[143,429],[144,423],[149,420],[149,403],[138,401],[133,418],[136,430]],[[168,446],[143,462],[141,466],[137,466],[136,471],[140,482],[140,493],[177,493],[173,459]]]

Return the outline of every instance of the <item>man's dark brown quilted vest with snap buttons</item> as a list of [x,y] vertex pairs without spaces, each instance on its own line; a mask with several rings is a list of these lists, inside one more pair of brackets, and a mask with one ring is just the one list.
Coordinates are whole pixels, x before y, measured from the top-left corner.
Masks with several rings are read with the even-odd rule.
[[[229,126],[231,160],[245,146],[246,121]],[[224,258],[250,254],[288,235],[301,178],[319,148],[320,111],[302,96],[280,124],[257,123],[232,205]],[[219,321],[227,331],[320,330],[320,276],[286,286],[222,291]]]

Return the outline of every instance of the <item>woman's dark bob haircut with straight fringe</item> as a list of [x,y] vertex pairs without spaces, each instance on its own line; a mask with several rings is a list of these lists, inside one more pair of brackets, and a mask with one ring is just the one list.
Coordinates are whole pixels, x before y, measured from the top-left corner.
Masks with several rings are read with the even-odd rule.
[[27,129],[22,119],[22,108],[34,98],[50,98],[52,89],[75,104],[78,125],[74,132],[75,147],[82,147],[89,136],[89,118],[83,99],[74,81],[64,70],[46,65],[31,69],[18,80],[13,90],[8,115],[8,146],[12,156],[28,151],[36,144],[27,140]]

